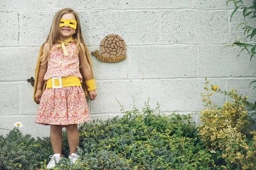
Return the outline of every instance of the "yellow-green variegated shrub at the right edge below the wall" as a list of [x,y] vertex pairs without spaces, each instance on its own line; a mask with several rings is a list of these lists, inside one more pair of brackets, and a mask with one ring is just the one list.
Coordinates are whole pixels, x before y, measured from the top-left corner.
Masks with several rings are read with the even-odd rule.
[[[250,119],[244,109],[247,96],[239,96],[234,89],[222,92],[217,86],[212,86],[213,92],[209,93],[208,83],[206,79],[204,89],[207,94],[201,94],[205,110],[200,111],[203,125],[198,125],[199,138],[209,150],[212,150],[216,160],[222,158],[227,162],[227,166],[224,166],[221,161],[221,167],[255,169],[256,132],[246,133],[250,125]],[[212,105],[209,98],[215,91],[229,96],[233,101],[227,101],[221,108],[217,108],[216,105]]]

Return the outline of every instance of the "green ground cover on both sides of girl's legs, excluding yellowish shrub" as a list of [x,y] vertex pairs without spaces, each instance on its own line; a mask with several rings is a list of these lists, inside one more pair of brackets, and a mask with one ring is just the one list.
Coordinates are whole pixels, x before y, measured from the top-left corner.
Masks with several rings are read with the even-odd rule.
[[[123,107],[123,106],[122,106]],[[197,138],[190,115],[164,115],[148,102],[143,112],[134,107],[122,118],[86,122],[79,127],[81,156],[76,164],[67,158],[55,170],[197,170],[217,169],[212,153]],[[6,170],[45,168],[52,154],[49,137],[34,139],[12,130],[0,136],[0,164]],[[63,133],[64,156],[69,153]]]

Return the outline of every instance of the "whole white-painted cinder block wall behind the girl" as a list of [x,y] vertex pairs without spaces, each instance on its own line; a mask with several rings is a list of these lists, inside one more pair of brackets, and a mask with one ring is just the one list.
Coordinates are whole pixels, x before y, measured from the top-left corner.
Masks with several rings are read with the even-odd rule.
[[[251,3],[251,0],[245,0]],[[121,115],[116,99],[126,110],[133,98],[141,110],[144,101],[165,113],[197,113],[203,109],[200,92],[204,78],[222,90],[236,88],[256,99],[249,83],[256,79],[256,59],[239,48],[223,48],[242,37],[236,26],[243,20],[226,0],[1,0],[0,1],[0,127],[20,121],[23,133],[49,136],[49,126],[34,123],[38,105],[26,79],[34,76],[35,63],[58,9],[79,13],[90,53],[99,50],[108,34],[126,42],[127,59],[100,62],[91,56],[97,98],[88,102],[92,119]],[[255,42],[255,40],[253,40]],[[221,105],[227,98],[214,95]],[[194,117],[198,122],[198,116]],[[0,130],[0,134],[8,133]]]

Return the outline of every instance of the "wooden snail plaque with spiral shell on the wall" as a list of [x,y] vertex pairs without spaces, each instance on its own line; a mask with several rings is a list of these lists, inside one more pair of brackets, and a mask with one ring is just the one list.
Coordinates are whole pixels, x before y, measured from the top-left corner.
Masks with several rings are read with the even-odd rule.
[[102,62],[119,62],[126,58],[124,55],[126,51],[125,41],[116,34],[109,34],[103,38],[99,51],[95,50],[92,54]]

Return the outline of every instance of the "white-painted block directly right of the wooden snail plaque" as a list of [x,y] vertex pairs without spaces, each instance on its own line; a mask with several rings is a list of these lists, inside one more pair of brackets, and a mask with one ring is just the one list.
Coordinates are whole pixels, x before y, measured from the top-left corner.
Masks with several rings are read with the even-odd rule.
[[131,79],[196,77],[196,47],[192,45],[131,46],[127,55]]

